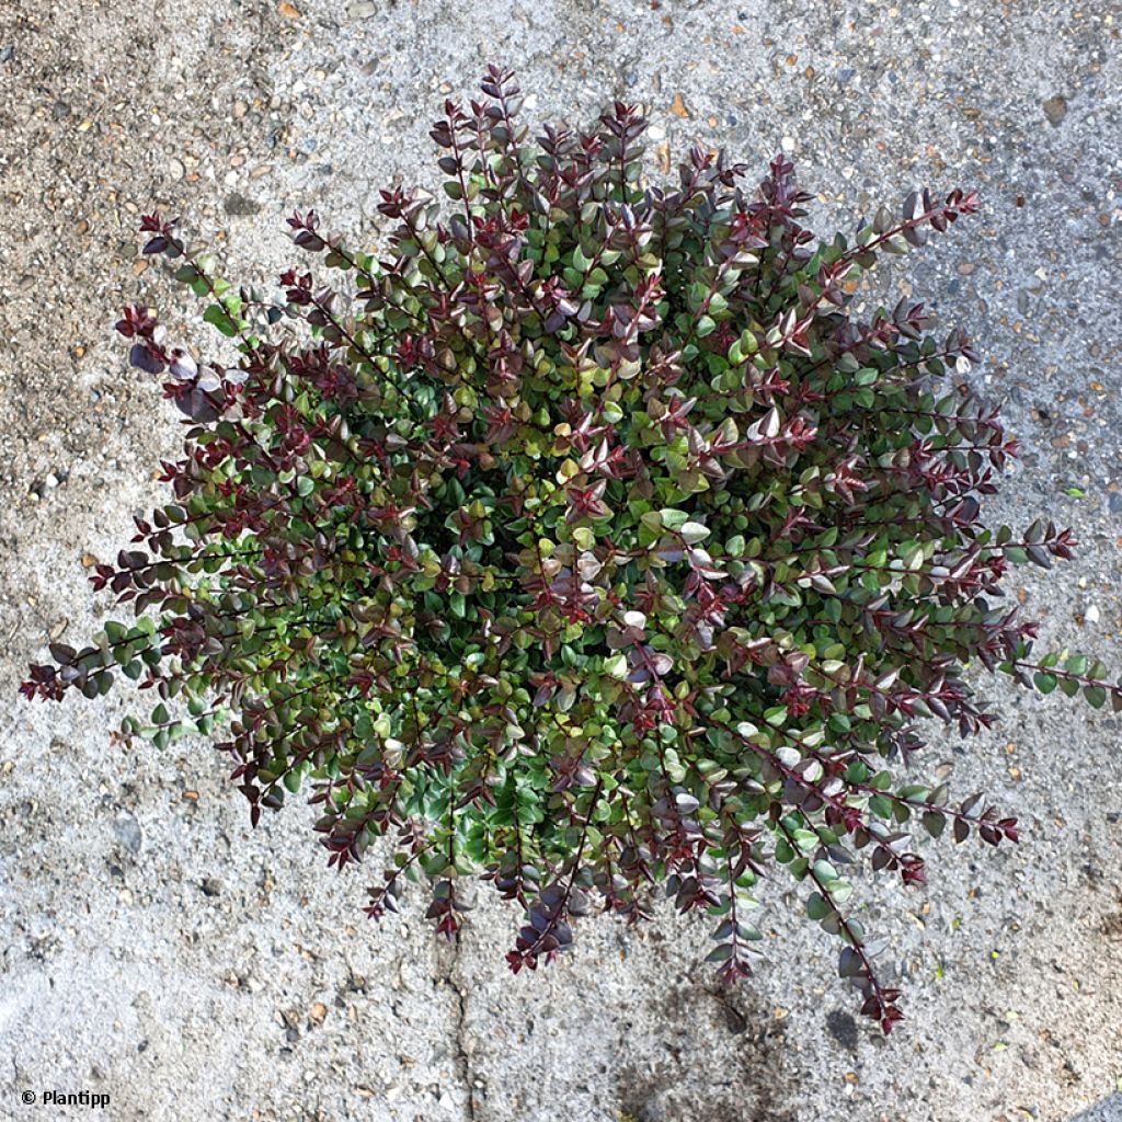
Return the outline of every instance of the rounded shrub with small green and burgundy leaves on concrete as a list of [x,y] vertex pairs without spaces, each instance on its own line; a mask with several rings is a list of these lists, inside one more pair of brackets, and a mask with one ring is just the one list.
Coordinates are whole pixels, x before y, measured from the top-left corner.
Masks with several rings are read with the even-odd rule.
[[662,884],[715,917],[735,981],[778,865],[888,1032],[898,991],[846,867],[922,883],[917,824],[1017,838],[981,795],[907,778],[920,723],[990,727],[973,662],[1122,708],[1102,664],[1033,655],[1037,625],[994,603],[1010,564],[1076,543],[1047,518],[981,524],[1015,442],[954,377],[971,341],[907,300],[853,313],[881,254],[977,197],[923,191],[816,241],[783,156],[754,191],[699,147],[677,186],[646,185],[636,107],[527,144],[513,76],[482,92],[432,130],[450,213],[381,192],[380,256],[288,220],[338,286],[293,268],[283,296],[234,289],[145,218],[144,251],[237,359],[125,310],[184,456],[95,569],[136,622],[53,644],[22,690],[95,697],[119,669],[160,699],[125,733],[221,735],[255,825],[305,785],[329,865],[389,837],[371,917],[423,874],[452,936],[480,874],[525,910],[515,972],[594,905],[650,918]]

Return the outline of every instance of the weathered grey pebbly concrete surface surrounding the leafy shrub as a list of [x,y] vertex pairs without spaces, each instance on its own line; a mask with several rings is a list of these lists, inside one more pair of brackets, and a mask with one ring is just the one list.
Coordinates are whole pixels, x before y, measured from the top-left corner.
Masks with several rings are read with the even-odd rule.
[[1119,666],[1120,27],[1103,0],[3,0],[0,1119],[91,1113],[20,1101],[46,1089],[108,1093],[92,1113],[122,1122],[1122,1119],[1119,723],[1059,696],[995,683],[1004,725],[927,753],[1023,840],[928,843],[927,890],[872,894],[905,990],[889,1041],[781,883],[771,965],[738,992],[670,917],[638,937],[588,921],[515,978],[512,913],[480,907],[459,947],[415,907],[369,925],[365,871],[324,875],[307,808],[250,833],[206,744],[114,745],[128,696],[16,698],[48,635],[95,626],[83,563],[176,447],[112,333],[137,297],[187,313],[137,263],[138,212],[224,229],[239,279],[288,259],[294,205],[373,242],[376,187],[435,183],[429,122],[488,61],[519,68],[535,121],[617,96],[675,158],[693,136],[762,171],[785,146],[845,229],[912,185],[980,188],[984,214],[886,291],[975,334],[974,377],[1008,398],[1023,458],[992,517],[1048,509],[1083,542],[1011,595]]

